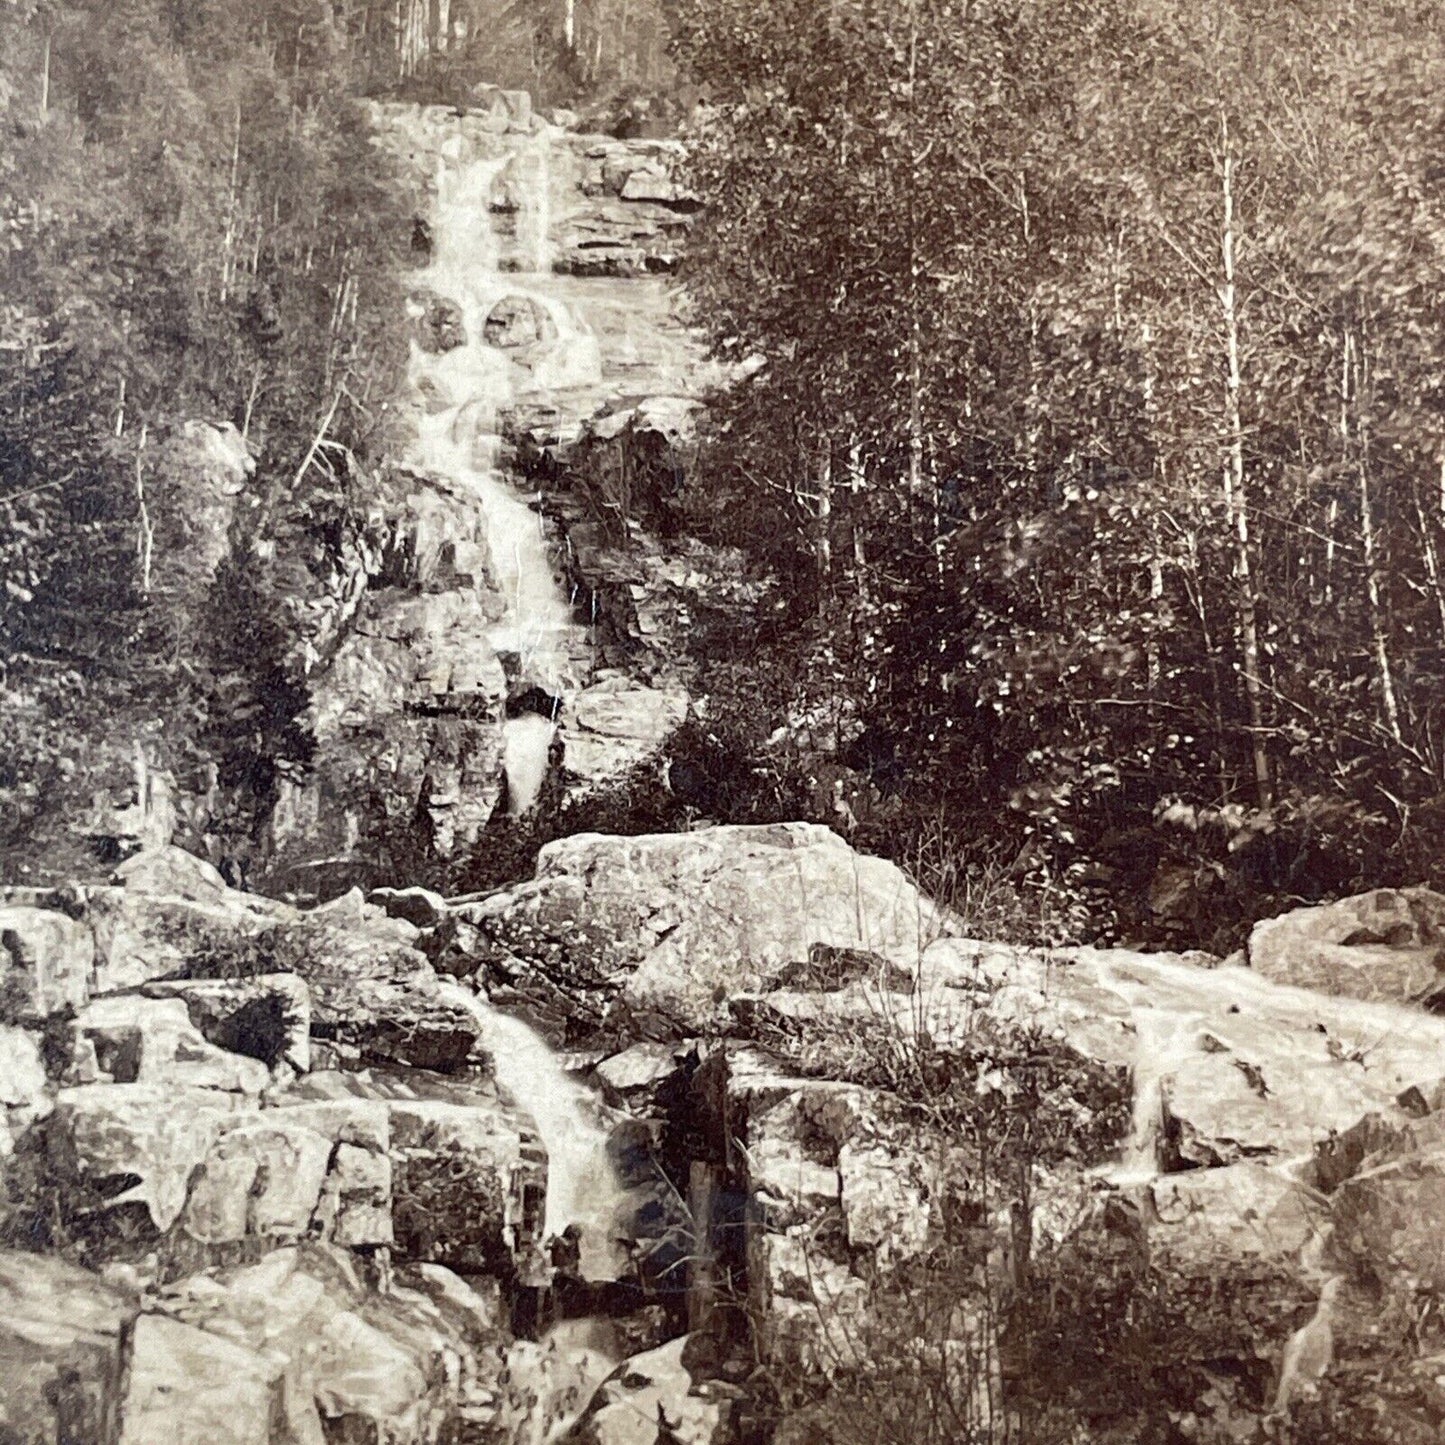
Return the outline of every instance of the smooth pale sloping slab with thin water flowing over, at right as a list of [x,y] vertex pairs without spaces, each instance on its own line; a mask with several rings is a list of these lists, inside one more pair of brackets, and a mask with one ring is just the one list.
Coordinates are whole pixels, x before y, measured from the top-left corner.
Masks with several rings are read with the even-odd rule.
[[944,939],[919,978],[935,1035],[1007,1019],[1127,1065],[1146,1173],[1308,1162],[1366,1114],[1405,1120],[1400,1095],[1445,1077],[1445,1020],[1283,987],[1250,968]]

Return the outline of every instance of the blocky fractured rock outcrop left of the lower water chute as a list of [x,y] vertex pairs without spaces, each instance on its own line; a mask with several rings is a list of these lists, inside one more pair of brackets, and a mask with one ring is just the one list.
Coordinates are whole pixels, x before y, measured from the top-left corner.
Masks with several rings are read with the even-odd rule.
[[447,1244],[413,1259],[530,1269],[546,1156],[416,928],[355,896],[303,915],[182,858],[77,890],[75,916],[9,909],[49,949],[32,948],[40,977],[59,958],[77,980],[26,974],[3,1032],[7,1137],[45,1173],[12,1199],[16,1227],[53,1204],[107,1257],[182,1237],[380,1247],[425,1220]]

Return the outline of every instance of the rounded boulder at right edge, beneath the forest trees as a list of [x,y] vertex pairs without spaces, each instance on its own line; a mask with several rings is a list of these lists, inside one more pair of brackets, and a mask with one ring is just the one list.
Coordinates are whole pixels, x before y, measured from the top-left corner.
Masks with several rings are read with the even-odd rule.
[[1445,987],[1445,894],[1376,889],[1256,923],[1250,967],[1351,998],[1431,1001]]

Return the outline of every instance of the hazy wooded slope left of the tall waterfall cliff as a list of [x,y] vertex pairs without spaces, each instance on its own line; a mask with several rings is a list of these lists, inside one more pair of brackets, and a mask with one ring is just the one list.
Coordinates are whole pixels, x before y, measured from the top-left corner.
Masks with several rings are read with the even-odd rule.
[[306,762],[305,617],[384,451],[405,237],[322,9],[0,14],[9,848],[156,717],[241,838]]

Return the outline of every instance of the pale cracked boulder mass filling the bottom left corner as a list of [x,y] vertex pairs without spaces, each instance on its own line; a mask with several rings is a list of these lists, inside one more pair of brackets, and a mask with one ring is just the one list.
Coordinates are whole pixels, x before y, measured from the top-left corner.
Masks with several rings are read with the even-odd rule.
[[17,1445],[435,1441],[491,1422],[496,1300],[438,1266],[389,1293],[306,1244],[142,1302],[94,1274],[0,1254],[0,1435]]

